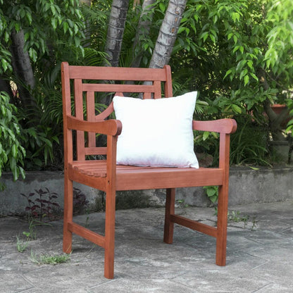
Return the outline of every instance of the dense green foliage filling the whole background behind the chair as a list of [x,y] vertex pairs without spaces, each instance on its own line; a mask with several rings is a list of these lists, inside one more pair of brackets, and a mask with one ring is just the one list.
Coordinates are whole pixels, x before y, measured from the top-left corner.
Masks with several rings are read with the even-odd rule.
[[[14,97],[18,112],[13,113],[18,118],[15,125],[21,125],[20,134],[13,123],[8,127],[20,137],[23,149],[15,143],[9,153],[11,166],[10,158],[5,167],[0,165],[1,170],[12,167],[16,178],[23,175],[22,163],[28,170],[62,165],[61,61],[88,66],[106,63],[103,50],[111,1],[94,0],[91,6],[80,5],[77,0],[0,3],[0,74],[4,80],[25,86],[11,63],[11,34],[23,32],[35,75],[35,88],[26,87],[33,106],[23,108],[21,96]],[[138,57],[139,66],[149,65],[167,6],[167,0],[155,1],[142,15],[142,5],[130,1],[120,66],[132,66]],[[263,116],[265,104],[285,103],[293,114],[292,19],[290,0],[187,1],[170,60],[174,94],[198,90],[195,119],[237,120],[231,163],[268,164],[274,121]],[[139,21],[146,21],[149,27],[137,32]],[[99,111],[103,105],[100,97],[97,99]],[[292,127],[291,120],[288,133]],[[216,160],[216,134],[196,132],[195,142],[197,150],[213,154]],[[13,154],[18,158],[13,159]]]

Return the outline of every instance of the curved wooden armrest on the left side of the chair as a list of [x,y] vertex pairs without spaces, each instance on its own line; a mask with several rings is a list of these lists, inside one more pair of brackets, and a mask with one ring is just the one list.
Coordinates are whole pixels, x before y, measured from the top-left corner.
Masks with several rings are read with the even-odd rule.
[[81,130],[87,132],[101,133],[102,135],[120,135],[122,123],[120,120],[100,120],[89,122],[77,119],[73,116],[67,116],[67,127],[71,130]]

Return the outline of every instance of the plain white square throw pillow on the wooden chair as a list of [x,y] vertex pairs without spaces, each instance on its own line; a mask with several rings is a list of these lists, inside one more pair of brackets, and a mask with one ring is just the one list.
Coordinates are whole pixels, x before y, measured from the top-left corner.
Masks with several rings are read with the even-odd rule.
[[194,154],[192,118],[197,92],[163,99],[114,96],[122,123],[117,164],[199,168]]

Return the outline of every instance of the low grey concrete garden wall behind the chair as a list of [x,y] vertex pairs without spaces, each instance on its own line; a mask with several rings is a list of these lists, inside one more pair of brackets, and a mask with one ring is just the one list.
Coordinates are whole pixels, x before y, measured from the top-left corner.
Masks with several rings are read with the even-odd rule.
[[[48,188],[56,192],[54,199],[63,206],[63,173],[62,172],[27,172],[25,180],[13,182],[10,173],[3,173],[1,181],[6,185],[0,192],[0,215],[24,213],[27,199],[21,195],[35,192],[35,189]],[[90,211],[99,211],[104,205],[104,193],[82,185],[75,185],[85,194]],[[208,206],[204,190],[201,187],[177,189],[178,204],[189,206]],[[286,201],[293,199],[293,166],[285,168],[260,168],[252,170],[249,167],[232,167],[230,169],[229,204],[251,204],[271,201]],[[144,190],[118,192],[116,206],[122,208],[144,208],[148,206],[163,206],[165,191]]]

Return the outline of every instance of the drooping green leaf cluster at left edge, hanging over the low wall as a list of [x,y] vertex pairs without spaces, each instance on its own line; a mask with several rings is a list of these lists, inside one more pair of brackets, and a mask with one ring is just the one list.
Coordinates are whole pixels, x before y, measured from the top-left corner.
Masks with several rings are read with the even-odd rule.
[[3,170],[11,170],[13,180],[17,180],[19,175],[24,178],[22,166],[25,149],[20,143],[20,126],[15,117],[16,108],[9,103],[6,92],[0,92],[0,111],[0,177]]

